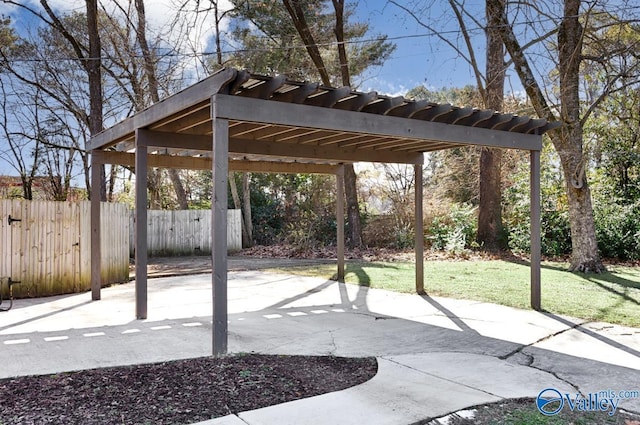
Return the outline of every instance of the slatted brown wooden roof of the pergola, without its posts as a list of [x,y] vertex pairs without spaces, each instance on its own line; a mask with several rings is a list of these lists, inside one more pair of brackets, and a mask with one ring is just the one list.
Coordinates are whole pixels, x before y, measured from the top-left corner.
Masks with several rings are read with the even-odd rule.
[[327,87],[284,75],[223,69],[99,133],[89,147],[115,146],[117,151],[130,152],[135,149],[135,130],[146,128],[181,135],[175,142],[166,142],[172,153],[201,152],[183,141],[191,135],[211,137],[214,102],[229,115],[233,138],[282,143],[289,150],[301,146],[354,149],[362,152],[361,160],[373,151],[428,152],[459,144],[538,149],[537,139],[527,137],[559,125],[491,110]]

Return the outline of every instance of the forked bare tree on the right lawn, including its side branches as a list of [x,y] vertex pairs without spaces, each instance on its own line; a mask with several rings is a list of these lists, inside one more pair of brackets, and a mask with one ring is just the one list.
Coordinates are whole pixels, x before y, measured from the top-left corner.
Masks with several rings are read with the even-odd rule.
[[[554,105],[552,94],[545,94],[540,80],[534,74],[526,47],[521,45],[514,33],[513,25],[507,14],[502,14],[498,28],[500,36],[511,56],[514,67],[536,113],[548,121],[560,121],[562,127],[549,133],[564,175],[569,203],[569,221],[571,225],[572,255],[570,270],[600,272],[604,266],[600,259],[595,235],[591,191],[586,175],[588,165],[584,148],[583,126],[598,104],[612,92],[619,90],[626,77],[638,75],[640,61],[620,61],[616,59],[624,52],[638,51],[638,41],[627,43],[622,50],[610,49],[597,57],[585,54],[585,40],[588,34],[583,24],[590,22],[595,13],[596,3],[586,5],[582,10],[580,0],[565,0],[559,17],[559,25],[548,34],[557,34],[557,49],[551,53],[557,57],[550,59],[556,63],[558,73],[559,110]],[[519,10],[520,12],[520,10]],[[537,12],[536,12],[537,13]],[[615,19],[609,23],[612,27],[624,28],[628,21]],[[539,39],[542,39],[540,37]],[[598,96],[592,96],[592,102],[584,105],[581,101],[581,66],[585,62],[603,64],[605,77]],[[614,66],[614,64],[620,66]],[[637,78],[635,82],[637,82]],[[629,84],[625,81],[623,86]]]

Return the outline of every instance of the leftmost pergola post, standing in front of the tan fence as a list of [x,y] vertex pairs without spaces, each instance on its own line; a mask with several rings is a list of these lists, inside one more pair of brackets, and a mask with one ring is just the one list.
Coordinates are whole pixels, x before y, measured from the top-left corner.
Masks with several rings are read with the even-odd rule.
[[100,193],[102,189],[102,153],[91,151],[91,299],[98,301],[102,289],[102,252],[100,234]]

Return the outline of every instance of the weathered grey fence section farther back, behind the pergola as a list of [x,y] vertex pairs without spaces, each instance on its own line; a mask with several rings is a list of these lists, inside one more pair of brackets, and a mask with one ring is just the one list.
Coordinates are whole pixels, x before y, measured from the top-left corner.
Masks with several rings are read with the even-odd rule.
[[[133,256],[134,211],[131,212],[130,247]],[[242,249],[240,210],[227,211],[227,249]],[[147,249],[149,256],[211,254],[211,210],[149,210],[147,212]]]

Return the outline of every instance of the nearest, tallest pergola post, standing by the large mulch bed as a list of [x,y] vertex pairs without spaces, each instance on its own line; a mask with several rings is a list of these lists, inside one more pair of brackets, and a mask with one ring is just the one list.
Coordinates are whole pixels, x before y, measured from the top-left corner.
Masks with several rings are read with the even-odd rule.
[[227,353],[227,179],[229,175],[229,121],[218,118],[215,96],[213,120],[213,197],[211,202],[211,279],[213,296],[213,355]]

